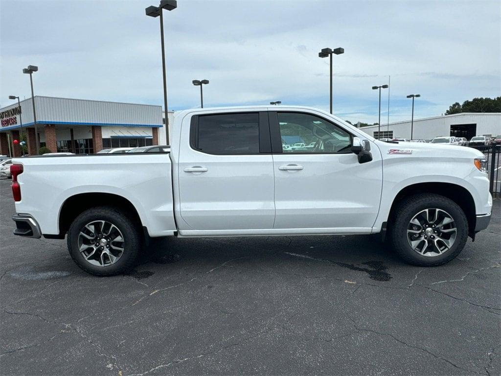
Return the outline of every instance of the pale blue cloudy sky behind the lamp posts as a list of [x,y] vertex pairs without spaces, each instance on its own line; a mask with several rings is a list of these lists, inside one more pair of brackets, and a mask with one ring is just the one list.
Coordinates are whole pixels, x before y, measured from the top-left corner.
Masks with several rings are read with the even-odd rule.
[[[22,69],[37,65],[35,95],[163,105],[155,0],[0,0],[0,107],[31,97]],[[158,2],[158,0],[156,0]],[[454,103],[501,95],[501,2],[191,1],[164,11],[169,110],[269,104],[378,121],[391,76],[389,121],[438,116]],[[383,89],[381,123],[388,120]]]

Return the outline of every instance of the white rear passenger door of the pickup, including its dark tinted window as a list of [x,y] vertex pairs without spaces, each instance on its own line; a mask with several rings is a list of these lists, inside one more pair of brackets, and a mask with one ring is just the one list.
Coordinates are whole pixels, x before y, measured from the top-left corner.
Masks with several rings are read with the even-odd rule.
[[275,181],[267,113],[194,115],[189,129],[181,130],[181,142],[188,139],[179,148],[179,229],[272,229]]

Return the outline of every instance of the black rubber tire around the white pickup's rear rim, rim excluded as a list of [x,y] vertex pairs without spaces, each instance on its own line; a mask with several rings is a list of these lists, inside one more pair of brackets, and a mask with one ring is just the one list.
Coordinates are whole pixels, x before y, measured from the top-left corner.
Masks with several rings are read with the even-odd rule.
[[[79,251],[80,231],[93,221],[107,221],[123,236],[123,253],[114,264],[92,265]],[[71,257],[81,269],[98,276],[113,276],[127,272],[136,265],[142,238],[139,224],[131,220],[130,216],[115,207],[102,206],[86,210],[73,221],[68,231],[67,243]]]

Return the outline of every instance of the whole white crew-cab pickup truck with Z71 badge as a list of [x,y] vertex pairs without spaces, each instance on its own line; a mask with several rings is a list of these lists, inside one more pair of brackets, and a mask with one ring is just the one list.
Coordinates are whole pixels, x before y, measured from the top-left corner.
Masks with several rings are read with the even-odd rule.
[[489,223],[471,148],[381,142],[297,106],[180,111],[171,136],[170,152],[14,159],[14,233],[67,236],[82,269],[114,275],[164,236],[388,233],[408,263],[440,265]]

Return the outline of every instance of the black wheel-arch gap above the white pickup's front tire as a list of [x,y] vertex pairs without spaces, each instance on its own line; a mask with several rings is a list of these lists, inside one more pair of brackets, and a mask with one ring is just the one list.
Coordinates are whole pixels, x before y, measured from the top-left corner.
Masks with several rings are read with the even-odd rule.
[[475,201],[473,196],[465,187],[449,182],[421,182],[410,184],[402,188],[395,196],[391,204],[388,215],[388,226],[391,226],[393,218],[396,214],[395,209],[403,198],[423,193],[441,195],[459,205],[468,220],[468,235],[473,236],[476,224]]

